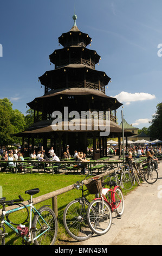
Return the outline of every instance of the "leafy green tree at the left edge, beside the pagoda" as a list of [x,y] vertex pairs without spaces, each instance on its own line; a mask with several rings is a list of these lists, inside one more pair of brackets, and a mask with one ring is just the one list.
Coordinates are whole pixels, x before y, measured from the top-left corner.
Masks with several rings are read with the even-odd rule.
[[9,99],[0,99],[0,144],[20,143],[21,138],[14,134],[22,131],[24,126],[24,115],[18,109],[12,109]]

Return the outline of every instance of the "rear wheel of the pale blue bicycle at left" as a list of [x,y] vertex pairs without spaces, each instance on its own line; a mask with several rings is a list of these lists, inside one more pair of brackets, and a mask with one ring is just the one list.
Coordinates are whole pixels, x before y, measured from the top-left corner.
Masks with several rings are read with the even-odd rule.
[[[44,221],[39,215],[35,215],[32,222],[33,237],[40,235],[35,241],[35,245],[54,245],[57,236],[57,218],[53,210],[47,206],[42,206],[38,210]],[[49,230],[48,230],[49,225]],[[46,231],[47,230],[47,231]],[[44,232],[44,234],[42,234]]]

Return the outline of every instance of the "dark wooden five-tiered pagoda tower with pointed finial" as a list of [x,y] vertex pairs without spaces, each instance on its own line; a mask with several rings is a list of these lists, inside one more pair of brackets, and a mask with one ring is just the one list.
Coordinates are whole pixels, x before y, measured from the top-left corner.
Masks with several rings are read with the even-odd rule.
[[[95,69],[100,56],[95,50],[87,48],[92,39],[87,33],[83,33],[77,28],[76,19],[77,16],[74,15],[73,27],[59,37],[59,44],[63,48],[55,50],[49,56],[55,69],[46,71],[39,77],[44,86],[44,95],[27,103],[31,109],[34,109],[34,124],[17,136],[32,138],[33,146],[34,138],[43,138],[45,149],[47,148],[47,139],[50,139],[50,144],[53,145],[59,157],[67,144],[70,146],[71,155],[74,154],[74,150],[87,153],[88,138],[93,138],[95,157],[96,139],[98,138],[98,148],[100,149],[98,157],[100,157],[107,154],[107,137],[100,136],[100,128],[88,130],[86,125],[84,130],[54,130],[52,127],[53,113],[57,111],[64,117],[64,107],[68,107],[69,113],[77,111],[80,114],[80,120],[82,111],[103,112],[103,117],[108,111],[111,113],[109,137],[118,137],[120,141],[122,136],[122,129],[116,124],[116,109],[122,104],[114,97],[105,94],[105,87],[111,78],[104,71]],[[63,122],[65,124],[64,119]]]

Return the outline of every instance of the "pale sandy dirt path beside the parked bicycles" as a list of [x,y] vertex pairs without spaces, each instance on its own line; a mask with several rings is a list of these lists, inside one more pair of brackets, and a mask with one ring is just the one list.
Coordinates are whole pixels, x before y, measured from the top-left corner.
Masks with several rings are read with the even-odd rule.
[[93,235],[72,245],[162,245],[162,162],[159,178],[154,184],[143,182],[125,197],[121,219],[113,213],[113,223],[107,234]]

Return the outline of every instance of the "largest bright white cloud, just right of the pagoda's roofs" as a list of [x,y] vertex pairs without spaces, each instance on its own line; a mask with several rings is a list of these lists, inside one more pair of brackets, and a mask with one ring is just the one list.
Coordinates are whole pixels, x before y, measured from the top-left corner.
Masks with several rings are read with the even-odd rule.
[[149,93],[127,93],[121,92],[118,95],[114,96],[120,102],[129,105],[131,102],[134,101],[144,101],[144,100],[153,100],[155,99],[155,95]]

